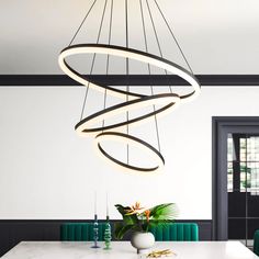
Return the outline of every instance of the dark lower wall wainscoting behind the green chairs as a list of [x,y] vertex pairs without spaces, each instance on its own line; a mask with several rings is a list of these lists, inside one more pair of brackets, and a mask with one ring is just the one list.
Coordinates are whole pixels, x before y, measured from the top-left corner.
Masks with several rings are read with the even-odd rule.
[[[60,225],[77,219],[0,219],[0,257],[20,241],[59,240]],[[102,221],[100,221],[102,222]],[[111,221],[112,224],[119,221]],[[211,219],[188,219],[199,225],[200,240],[212,240]]]

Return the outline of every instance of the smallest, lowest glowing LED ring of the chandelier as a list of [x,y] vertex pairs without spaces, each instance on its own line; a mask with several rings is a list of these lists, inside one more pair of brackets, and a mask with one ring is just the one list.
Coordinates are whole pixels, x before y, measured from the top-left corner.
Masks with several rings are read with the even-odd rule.
[[[112,161],[113,164],[124,169],[127,169],[131,171],[137,171],[137,172],[156,172],[156,171],[159,171],[165,166],[165,159],[162,155],[151,145],[149,145],[148,143],[137,137],[134,137],[124,133],[119,133],[119,132],[104,132],[97,135],[95,140],[97,140],[97,147],[100,154],[109,161]],[[145,151],[148,153],[148,155],[151,157],[153,161],[155,160],[157,165],[153,167],[138,167],[138,166],[133,166],[133,165],[123,162],[114,158],[113,156],[108,154],[108,151],[104,150],[104,148],[101,145],[101,142],[104,142],[104,140],[123,142],[128,145],[134,145],[140,148],[144,148]]]

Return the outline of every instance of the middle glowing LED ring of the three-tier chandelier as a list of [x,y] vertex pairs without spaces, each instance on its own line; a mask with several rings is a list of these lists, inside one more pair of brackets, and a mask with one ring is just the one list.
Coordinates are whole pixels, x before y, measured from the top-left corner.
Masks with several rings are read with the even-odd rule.
[[[161,114],[161,113],[165,113],[166,111],[177,108],[179,104],[179,101],[180,101],[180,98],[176,93],[160,93],[160,94],[156,94],[151,97],[144,97],[140,99],[131,100],[127,102],[123,102],[123,103],[110,106],[108,109],[104,109],[100,112],[97,112],[87,116],[75,126],[75,130],[79,134],[98,133],[98,132],[108,131],[108,130],[125,126],[128,124],[137,123],[140,121],[146,121],[153,115]],[[128,119],[120,123],[114,123],[114,124],[110,124],[110,125],[105,125],[101,127],[94,126],[98,123],[101,123],[103,120],[108,120],[109,117],[112,117],[114,115],[130,112],[132,110],[138,109],[139,106],[144,108],[144,106],[156,105],[156,104],[164,104],[164,105],[160,109],[157,109],[153,112],[148,112],[146,114],[135,116],[133,119]]]

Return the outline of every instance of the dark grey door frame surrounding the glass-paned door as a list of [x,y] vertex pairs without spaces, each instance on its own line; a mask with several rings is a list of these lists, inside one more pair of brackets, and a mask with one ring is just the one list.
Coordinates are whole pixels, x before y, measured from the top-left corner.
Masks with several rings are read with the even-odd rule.
[[227,134],[259,133],[259,116],[212,117],[212,223],[213,239],[227,240]]

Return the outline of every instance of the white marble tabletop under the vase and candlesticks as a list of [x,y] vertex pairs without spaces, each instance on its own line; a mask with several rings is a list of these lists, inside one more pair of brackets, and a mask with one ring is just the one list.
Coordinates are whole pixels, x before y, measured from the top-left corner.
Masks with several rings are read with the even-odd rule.
[[[128,241],[113,241],[111,250],[91,248],[86,241],[22,241],[1,259],[140,259]],[[239,241],[157,241],[153,250],[171,249],[172,259],[256,259]]]

